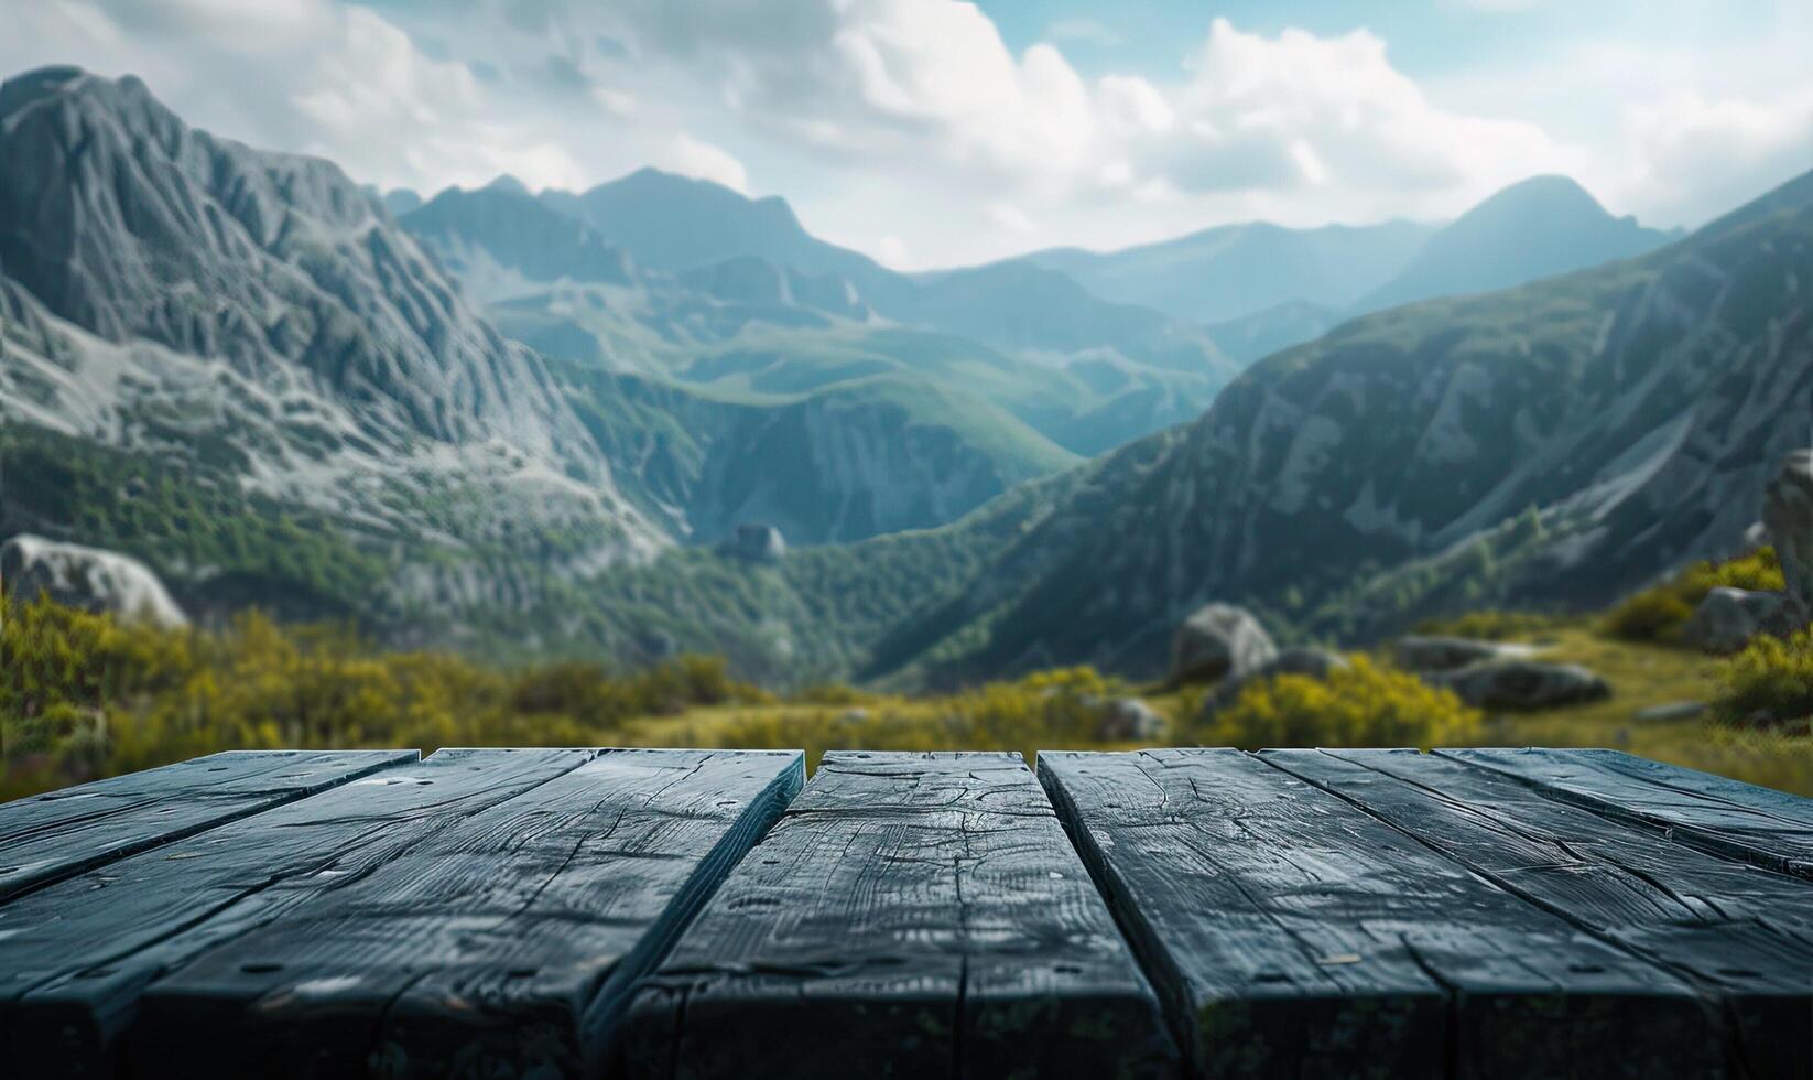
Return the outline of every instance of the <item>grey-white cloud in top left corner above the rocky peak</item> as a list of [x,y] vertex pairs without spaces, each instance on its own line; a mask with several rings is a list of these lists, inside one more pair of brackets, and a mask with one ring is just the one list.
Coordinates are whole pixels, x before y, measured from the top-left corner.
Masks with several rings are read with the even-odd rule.
[[140,74],[190,123],[332,158],[377,183],[577,183],[558,142],[491,116],[471,71],[332,0],[47,0],[11,11],[7,71],[74,62]]

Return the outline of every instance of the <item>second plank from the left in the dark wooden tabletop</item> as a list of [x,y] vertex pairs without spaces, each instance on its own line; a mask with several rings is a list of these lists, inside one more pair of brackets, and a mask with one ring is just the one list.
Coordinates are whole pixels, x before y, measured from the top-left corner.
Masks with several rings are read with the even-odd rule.
[[118,1075],[154,978],[591,757],[442,750],[15,897],[0,906],[4,1060],[25,1076]]

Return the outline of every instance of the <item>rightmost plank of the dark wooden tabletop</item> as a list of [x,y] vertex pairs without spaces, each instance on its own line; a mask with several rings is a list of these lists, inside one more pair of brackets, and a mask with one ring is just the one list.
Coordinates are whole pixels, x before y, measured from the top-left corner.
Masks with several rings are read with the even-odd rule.
[[1813,879],[1813,799],[1619,750],[1438,750],[1681,842]]

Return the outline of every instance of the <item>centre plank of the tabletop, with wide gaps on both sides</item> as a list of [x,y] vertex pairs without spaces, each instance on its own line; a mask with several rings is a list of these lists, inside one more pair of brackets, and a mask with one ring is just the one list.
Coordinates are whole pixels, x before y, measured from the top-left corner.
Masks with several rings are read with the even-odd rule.
[[827,753],[624,1020],[629,1076],[1162,1076],[1157,1000],[1015,753]]

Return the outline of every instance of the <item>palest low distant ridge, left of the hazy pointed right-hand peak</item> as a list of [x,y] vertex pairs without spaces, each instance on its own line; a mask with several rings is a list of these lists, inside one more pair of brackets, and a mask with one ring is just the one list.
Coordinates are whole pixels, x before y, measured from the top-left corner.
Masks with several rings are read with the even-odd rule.
[[[1090,292],[1197,323],[1307,301],[1345,309],[1401,270],[1432,225],[1220,225],[1111,252],[1039,250],[1019,260],[1062,270]],[[995,263],[999,265],[999,263]]]

